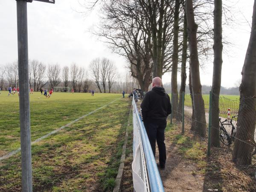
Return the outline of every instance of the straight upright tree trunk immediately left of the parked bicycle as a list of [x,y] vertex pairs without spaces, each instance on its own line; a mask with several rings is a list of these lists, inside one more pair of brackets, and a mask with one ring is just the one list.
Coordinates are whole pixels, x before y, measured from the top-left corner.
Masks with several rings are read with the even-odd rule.
[[212,75],[212,129],[211,146],[220,147],[219,131],[219,94],[221,90],[222,67],[222,0],[214,0],[214,29],[213,29],[213,75]]

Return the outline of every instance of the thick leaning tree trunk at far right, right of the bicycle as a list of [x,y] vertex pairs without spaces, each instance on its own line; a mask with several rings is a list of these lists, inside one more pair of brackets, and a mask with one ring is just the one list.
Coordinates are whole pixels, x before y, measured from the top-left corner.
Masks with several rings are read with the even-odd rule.
[[249,165],[254,142],[256,123],[256,0],[253,5],[253,22],[239,87],[240,104],[237,131],[233,149],[233,161],[237,165]]

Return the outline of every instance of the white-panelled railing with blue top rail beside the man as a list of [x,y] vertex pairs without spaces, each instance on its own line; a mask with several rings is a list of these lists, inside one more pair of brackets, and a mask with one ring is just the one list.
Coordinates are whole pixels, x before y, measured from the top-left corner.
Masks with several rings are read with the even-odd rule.
[[164,192],[148,136],[133,98],[133,163],[132,175],[136,192]]

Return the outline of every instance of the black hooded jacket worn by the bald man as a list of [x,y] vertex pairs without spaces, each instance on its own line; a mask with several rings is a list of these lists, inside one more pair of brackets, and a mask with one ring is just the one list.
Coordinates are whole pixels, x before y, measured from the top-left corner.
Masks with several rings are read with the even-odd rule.
[[146,119],[166,120],[167,116],[172,113],[170,97],[163,87],[153,87],[151,91],[148,91],[140,107],[143,121]]

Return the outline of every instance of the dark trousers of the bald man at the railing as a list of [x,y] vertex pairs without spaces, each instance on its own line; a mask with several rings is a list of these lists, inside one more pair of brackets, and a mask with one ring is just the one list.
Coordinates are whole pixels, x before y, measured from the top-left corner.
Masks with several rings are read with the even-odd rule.
[[159,151],[159,164],[164,166],[166,163],[166,146],[164,143],[164,130],[166,128],[166,120],[146,119],[144,122],[148,139],[155,156],[156,141]]

